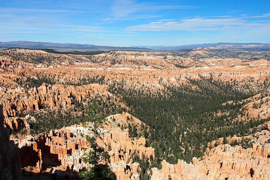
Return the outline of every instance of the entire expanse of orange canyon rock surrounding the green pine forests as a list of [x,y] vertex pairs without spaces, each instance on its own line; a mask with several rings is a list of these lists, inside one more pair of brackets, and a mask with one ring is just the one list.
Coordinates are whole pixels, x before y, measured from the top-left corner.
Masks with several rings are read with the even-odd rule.
[[[189,78],[211,77],[237,82],[238,88],[248,86],[258,94],[246,99],[243,113],[235,121],[268,118],[269,92],[261,94],[262,87],[258,82],[263,84],[270,76],[269,53],[258,55],[257,52],[235,51],[237,55],[230,55],[228,53],[234,51],[226,51],[225,48],[224,53],[217,54],[211,49],[220,47],[197,48],[188,52],[110,51],[98,55],[53,54],[21,48],[1,50],[0,180],[19,180],[22,177],[21,167],[38,175],[49,173],[60,177],[87,167],[81,157],[85,152],[83,148],[88,149],[89,145],[82,137],[87,131],[81,125],[63,127],[35,137],[22,135],[16,138],[13,133],[29,128],[27,117],[19,116],[20,112],[42,113],[44,105],[48,109],[61,107],[67,110],[73,107],[74,100],[85,102],[91,98],[103,98],[106,101],[110,97],[114,103],[125,107],[121,95],[111,94],[109,88],[122,88],[123,91],[132,88],[140,93],[147,89],[158,94],[162,93],[165,85],[178,86],[188,84]],[[44,79],[51,80],[52,84],[30,88],[30,81]],[[102,85],[93,82],[101,82]],[[113,87],[114,82],[119,82],[121,87]],[[154,149],[146,148],[143,137],[132,140],[127,130],[118,128],[118,123],[124,127],[128,123],[138,127],[145,124],[128,113],[112,115],[107,120],[109,125],[104,125],[104,134],[98,143],[109,152],[112,171],[117,180],[139,180],[141,167],[133,162],[131,156],[136,153],[139,157],[155,158]],[[269,139],[269,122],[267,127],[268,130],[255,133],[259,136],[257,142],[265,143]],[[240,138],[230,137],[228,142]],[[269,144],[254,144],[249,149],[219,145],[208,149],[202,158],[193,158],[193,164],[180,160],[177,164],[169,164],[164,160],[161,170],[152,168],[151,179],[268,180],[269,149]]]

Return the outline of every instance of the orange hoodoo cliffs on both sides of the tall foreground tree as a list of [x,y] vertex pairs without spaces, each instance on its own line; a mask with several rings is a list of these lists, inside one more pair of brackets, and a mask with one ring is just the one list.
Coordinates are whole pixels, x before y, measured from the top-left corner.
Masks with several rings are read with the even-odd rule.
[[[128,131],[104,125],[104,133],[98,139],[99,146],[103,146],[110,155],[110,166],[117,180],[139,180],[140,164],[134,163],[131,155],[137,153],[155,157],[152,147],[146,148],[144,137],[131,140]],[[79,172],[88,164],[82,161],[84,150],[89,144],[82,134],[88,130],[81,126],[64,127],[60,130],[39,134],[36,137],[22,137],[18,144],[20,148],[20,163],[27,170],[34,168],[34,172],[51,171],[55,167],[61,171]],[[86,150],[87,151],[87,150]]]

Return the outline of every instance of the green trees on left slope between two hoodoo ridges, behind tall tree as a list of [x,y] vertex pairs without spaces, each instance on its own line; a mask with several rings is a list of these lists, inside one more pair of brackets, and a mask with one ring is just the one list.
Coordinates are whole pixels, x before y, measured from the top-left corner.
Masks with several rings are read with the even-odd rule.
[[[112,101],[106,99],[96,99],[98,109],[104,116],[126,111],[125,109],[117,106]],[[40,103],[39,103],[40,104]],[[52,129],[60,129],[63,126],[70,126],[85,122],[85,114],[87,114],[87,105],[76,100],[72,97],[73,108],[63,110],[59,107],[58,110],[46,107],[44,104],[40,104],[39,108],[43,108],[45,111],[41,113],[39,111],[32,111],[30,115],[35,117],[35,121],[31,118],[27,120],[30,125],[30,134],[36,135],[42,132],[49,132]],[[27,112],[17,112],[19,117],[25,117]]]

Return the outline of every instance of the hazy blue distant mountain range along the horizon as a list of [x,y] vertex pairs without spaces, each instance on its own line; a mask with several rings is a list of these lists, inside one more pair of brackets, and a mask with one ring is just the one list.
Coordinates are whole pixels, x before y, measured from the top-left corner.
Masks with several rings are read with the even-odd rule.
[[92,44],[75,44],[75,43],[50,43],[50,42],[32,42],[32,41],[9,41],[0,42],[0,48],[23,47],[30,49],[57,49],[61,50],[80,50],[80,51],[97,51],[97,50],[135,50],[135,51],[152,51],[152,50],[175,50],[175,49],[193,49],[197,47],[220,46],[232,49],[258,49],[270,50],[270,44],[263,43],[209,43],[209,44],[190,44],[182,46],[96,46]]

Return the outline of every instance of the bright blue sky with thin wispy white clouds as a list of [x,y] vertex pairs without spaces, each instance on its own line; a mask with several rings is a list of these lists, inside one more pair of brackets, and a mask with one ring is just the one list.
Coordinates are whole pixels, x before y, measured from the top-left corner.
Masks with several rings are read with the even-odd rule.
[[0,41],[105,46],[270,43],[270,1],[0,1]]

